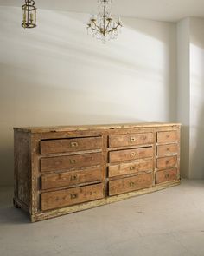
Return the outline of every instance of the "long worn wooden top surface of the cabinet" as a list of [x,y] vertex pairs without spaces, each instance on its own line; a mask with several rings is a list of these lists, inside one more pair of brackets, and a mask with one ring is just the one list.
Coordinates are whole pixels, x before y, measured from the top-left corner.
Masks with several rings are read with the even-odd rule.
[[169,123],[169,122],[141,122],[141,123],[73,125],[73,126],[56,126],[56,127],[25,127],[25,128],[14,128],[14,130],[36,134],[36,133],[48,133],[48,132],[84,131],[84,130],[94,130],[94,129],[156,128],[156,127],[180,126],[180,125],[181,125],[180,123]]

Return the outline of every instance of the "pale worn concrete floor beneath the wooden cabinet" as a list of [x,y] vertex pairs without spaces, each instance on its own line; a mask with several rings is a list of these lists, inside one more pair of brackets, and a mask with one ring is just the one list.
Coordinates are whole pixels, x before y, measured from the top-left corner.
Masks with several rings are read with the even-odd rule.
[[203,256],[204,181],[29,223],[0,188],[1,256]]

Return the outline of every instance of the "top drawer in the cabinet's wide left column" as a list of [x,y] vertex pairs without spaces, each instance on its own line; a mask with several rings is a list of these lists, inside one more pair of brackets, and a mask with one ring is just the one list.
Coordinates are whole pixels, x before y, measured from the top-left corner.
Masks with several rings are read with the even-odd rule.
[[102,137],[41,141],[41,154],[56,154],[102,148]]

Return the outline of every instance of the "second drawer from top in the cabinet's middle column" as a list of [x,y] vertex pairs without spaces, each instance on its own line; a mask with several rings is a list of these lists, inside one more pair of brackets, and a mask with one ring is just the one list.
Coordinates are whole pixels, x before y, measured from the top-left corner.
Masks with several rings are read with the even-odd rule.
[[153,156],[153,148],[133,148],[109,152],[109,162],[131,161]]

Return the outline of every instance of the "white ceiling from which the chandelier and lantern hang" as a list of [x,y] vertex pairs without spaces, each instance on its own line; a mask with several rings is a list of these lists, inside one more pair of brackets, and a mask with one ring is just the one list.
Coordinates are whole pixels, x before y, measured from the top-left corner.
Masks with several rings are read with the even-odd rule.
[[[35,0],[37,8],[95,13],[98,0]],[[0,5],[21,6],[24,0],[0,0]],[[114,0],[112,14],[176,22],[183,17],[204,17],[204,0]]]

